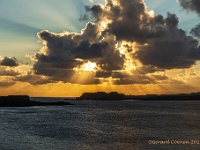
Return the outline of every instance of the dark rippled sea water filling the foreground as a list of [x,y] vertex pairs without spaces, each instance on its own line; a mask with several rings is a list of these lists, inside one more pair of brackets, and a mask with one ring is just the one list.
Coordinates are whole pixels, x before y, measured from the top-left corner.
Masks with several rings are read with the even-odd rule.
[[200,140],[200,101],[71,102],[75,105],[0,108],[0,150],[200,149],[148,144]]

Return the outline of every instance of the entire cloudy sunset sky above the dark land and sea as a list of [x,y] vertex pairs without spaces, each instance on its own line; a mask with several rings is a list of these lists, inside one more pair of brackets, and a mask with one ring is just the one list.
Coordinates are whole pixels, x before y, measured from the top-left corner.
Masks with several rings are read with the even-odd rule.
[[0,95],[200,92],[199,0],[1,0]]

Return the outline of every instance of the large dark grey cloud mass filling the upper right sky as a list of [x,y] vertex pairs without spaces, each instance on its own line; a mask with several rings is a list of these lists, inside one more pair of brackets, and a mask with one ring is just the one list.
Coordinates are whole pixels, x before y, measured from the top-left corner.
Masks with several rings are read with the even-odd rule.
[[138,42],[140,46],[133,57],[143,65],[161,69],[189,68],[200,59],[198,41],[178,28],[179,19],[175,14],[168,13],[166,18],[151,16],[143,0],[106,2],[105,7],[95,5],[99,9],[90,7],[88,11],[93,13],[97,23],[108,18],[111,23],[104,32],[114,34],[118,41]]

